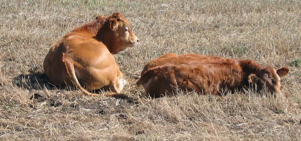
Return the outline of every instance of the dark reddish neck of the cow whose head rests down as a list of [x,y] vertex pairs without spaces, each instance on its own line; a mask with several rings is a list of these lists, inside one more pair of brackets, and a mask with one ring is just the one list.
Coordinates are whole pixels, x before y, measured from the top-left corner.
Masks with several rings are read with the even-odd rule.
[[250,75],[251,73],[257,74],[264,68],[252,60],[240,60],[240,66],[247,75]]

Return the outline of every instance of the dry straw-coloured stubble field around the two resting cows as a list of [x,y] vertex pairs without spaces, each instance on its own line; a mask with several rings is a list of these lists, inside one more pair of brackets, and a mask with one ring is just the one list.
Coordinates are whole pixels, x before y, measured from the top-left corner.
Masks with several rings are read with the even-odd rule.
[[[140,39],[115,55],[131,99],[81,97],[48,83],[50,46],[116,11]],[[0,15],[0,140],[301,140],[299,0],[0,0]],[[285,99],[249,89],[143,98],[132,75],[168,52],[288,66]]]

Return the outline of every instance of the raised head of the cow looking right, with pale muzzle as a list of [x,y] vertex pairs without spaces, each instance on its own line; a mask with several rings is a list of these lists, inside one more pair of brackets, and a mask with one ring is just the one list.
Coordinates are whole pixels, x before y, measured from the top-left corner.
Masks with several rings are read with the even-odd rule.
[[108,27],[113,32],[113,38],[116,41],[114,49],[112,49],[114,50],[113,54],[138,44],[139,39],[132,31],[131,24],[120,13],[114,13],[107,20]]

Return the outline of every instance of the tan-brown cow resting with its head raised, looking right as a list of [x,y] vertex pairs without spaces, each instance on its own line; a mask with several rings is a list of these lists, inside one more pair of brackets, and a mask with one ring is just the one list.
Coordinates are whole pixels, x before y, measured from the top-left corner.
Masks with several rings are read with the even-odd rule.
[[97,95],[90,92],[109,86],[113,93],[107,96],[116,96],[126,81],[113,54],[138,42],[129,21],[120,13],[98,16],[52,45],[43,67],[54,84],[76,86],[87,95]]

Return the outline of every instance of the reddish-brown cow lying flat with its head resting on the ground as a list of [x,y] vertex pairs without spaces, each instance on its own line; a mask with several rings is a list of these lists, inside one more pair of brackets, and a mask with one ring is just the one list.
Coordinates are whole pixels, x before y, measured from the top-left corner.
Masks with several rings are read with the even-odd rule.
[[169,53],[147,63],[136,84],[142,84],[151,97],[172,94],[175,87],[218,94],[223,88],[235,90],[251,84],[282,96],[280,79],[288,72],[287,67],[276,70],[251,60]]

